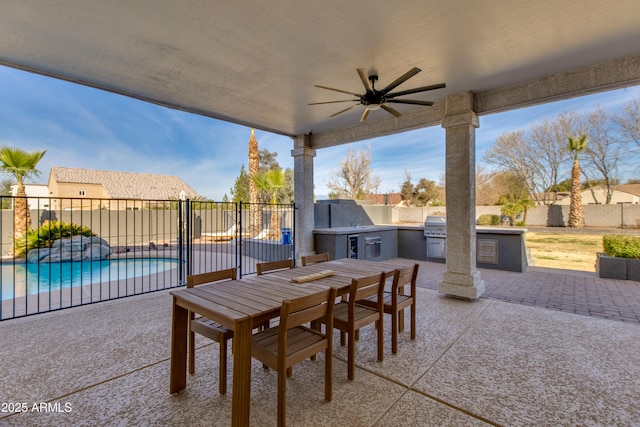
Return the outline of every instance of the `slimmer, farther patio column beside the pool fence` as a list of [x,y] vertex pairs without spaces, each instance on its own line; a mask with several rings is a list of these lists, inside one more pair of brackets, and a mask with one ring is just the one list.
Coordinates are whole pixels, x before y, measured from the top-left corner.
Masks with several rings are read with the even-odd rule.
[[296,263],[301,256],[314,253],[313,229],[313,158],[316,150],[310,148],[311,135],[301,135],[294,138],[293,157],[293,185],[294,201],[296,204]]

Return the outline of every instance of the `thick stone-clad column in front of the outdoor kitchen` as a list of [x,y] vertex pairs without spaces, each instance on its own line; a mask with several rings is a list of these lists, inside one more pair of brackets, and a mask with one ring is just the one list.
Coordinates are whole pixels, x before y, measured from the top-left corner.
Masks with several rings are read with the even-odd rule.
[[476,269],[476,182],[473,94],[447,97],[442,127],[446,129],[447,271],[438,291],[466,299],[484,292]]

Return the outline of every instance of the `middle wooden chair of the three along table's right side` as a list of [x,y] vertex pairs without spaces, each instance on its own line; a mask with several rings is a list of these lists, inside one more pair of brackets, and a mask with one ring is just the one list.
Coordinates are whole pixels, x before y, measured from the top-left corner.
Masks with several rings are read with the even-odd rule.
[[[378,360],[384,358],[384,336],[382,316],[383,292],[386,275],[384,273],[373,276],[352,279],[349,288],[349,299],[340,301],[333,310],[333,327],[340,330],[340,344],[344,345],[344,334],[347,335],[347,377],[355,378],[355,353],[357,331],[363,326],[376,323],[378,332]],[[375,308],[364,306],[360,301],[374,297],[377,304]],[[326,323],[325,320],[321,321]]]

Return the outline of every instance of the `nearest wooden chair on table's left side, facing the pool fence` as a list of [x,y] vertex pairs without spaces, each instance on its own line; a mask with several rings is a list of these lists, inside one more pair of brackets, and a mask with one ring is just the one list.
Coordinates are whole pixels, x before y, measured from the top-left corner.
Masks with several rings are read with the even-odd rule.
[[[205,283],[219,282],[222,280],[235,280],[236,269],[212,271],[209,273],[192,274],[187,276],[187,288]],[[195,373],[196,345],[195,334],[198,333],[220,344],[220,394],[227,392],[227,341],[233,338],[233,331],[206,317],[196,317],[189,312],[189,374]]]

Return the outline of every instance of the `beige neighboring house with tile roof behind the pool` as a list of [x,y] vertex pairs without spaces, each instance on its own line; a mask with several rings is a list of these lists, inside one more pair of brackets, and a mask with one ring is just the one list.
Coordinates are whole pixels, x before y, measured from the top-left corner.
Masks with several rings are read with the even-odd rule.
[[[177,176],[53,167],[49,174],[51,209],[138,210],[156,200],[202,197]],[[72,198],[72,201],[67,200]],[[124,200],[110,202],[108,199]]]

